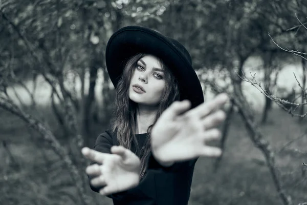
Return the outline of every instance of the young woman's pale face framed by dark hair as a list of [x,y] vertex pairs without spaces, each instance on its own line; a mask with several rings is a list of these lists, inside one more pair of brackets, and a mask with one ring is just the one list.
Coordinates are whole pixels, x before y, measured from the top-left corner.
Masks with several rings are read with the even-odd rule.
[[145,55],[138,60],[131,78],[129,98],[138,104],[157,106],[164,93],[165,84],[164,71],[159,59]]

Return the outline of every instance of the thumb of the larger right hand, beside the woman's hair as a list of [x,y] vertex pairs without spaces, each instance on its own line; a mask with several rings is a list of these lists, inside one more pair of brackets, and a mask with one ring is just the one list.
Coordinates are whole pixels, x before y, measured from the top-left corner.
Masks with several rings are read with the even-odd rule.
[[191,107],[191,102],[187,99],[182,101],[174,101],[169,108],[163,112],[163,116],[167,119],[174,119],[176,116],[188,111]]

